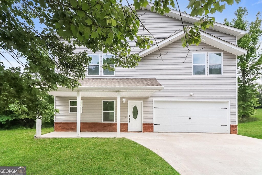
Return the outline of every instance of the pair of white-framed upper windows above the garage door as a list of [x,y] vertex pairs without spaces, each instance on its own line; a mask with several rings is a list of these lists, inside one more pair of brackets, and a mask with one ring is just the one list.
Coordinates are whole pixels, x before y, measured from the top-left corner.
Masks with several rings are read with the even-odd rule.
[[208,58],[206,55],[206,52],[192,53],[192,75],[207,75],[207,71],[208,75],[223,75],[223,53],[208,52]]

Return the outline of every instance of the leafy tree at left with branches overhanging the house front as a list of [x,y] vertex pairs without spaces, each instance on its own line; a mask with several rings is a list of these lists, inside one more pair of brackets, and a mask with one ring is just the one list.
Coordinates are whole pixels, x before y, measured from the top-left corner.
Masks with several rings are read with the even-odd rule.
[[[225,5],[240,0],[190,0],[190,15],[201,16],[193,26],[185,26],[182,45],[200,43],[199,29],[206,29],[215,22],[213,14],[222,12]],[[225,2],[223,4],[220,4]],[[127,1],[128,3],[128,1]],[[146,6],[147,0],[134,1],[135,9]],[[174,0],[155,0],[154,8],[160,14],[175,8]],[[162,6],[162,7],[161,7]],[[178,6],[178,4],[177,4]],[[179,6],[178,6],[179,7]],[[35,27],[35,19],[44,25],[42,31]],[[77,46],[85,46],[93,52],[110,52],[116,57],[110,65],[135,67],[140,61],[138,54],[130,54],[128,40],[137,47],[149,48],[154,36],[138,36],[140,20],[130,4],[122,0],[3,0],[0,4],[0,49],[8,52],[19,68],[4,69],[0,63],[0,112],[10,104],[20,103],[30,116],[43,118],[46,112],[54,112],[42,98],[57,86],[75,88],[78,79],[85,77],[91,61],[86,52],[74,53]],[[70,44],[62,43],[59,36]],[[152,39],[152,40],[151,40]],[[4,55],[0,52],[4,57]],[[58,58],[54,58],[54,55]],[[26,58],[27,64],[19,60]],[[4,57],[5,58],[5,57]]]

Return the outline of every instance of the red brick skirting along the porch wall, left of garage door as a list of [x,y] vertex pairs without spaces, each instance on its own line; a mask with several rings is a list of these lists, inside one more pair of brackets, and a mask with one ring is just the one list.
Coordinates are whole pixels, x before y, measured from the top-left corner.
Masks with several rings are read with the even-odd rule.
[[[77,131],[76,122],[55,122],[54,131]],[[117,123],[81,122],[81,132],[117,132]],[[120,132],[127,132],[127,123],[120,123]],[[154,132],[154,124],[143,123],[143,132]]]

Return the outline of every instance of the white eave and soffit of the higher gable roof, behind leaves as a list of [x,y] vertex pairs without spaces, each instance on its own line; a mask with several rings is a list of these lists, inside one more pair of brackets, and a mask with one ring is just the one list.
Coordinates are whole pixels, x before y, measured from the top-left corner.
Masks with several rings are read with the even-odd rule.
[[[141,9],[147,9],[147,10],[151,11],[151,7],[153,7],[153,6],[154,6],[154,4],[149,2],[149,4],[145,8],[142,7]],[[133,4],[131,5],[131,8],[133,10],[135,9]],[[170,10],[171,11],[169,13],[165,13],[164,15],[181,20],[179,11],[174,10],[174,9],[170,9]],[[199,19],[201,19],[200,17],[192,17],[192,16],[190,16],[190,14],[183,13],[183,12],[181,12],[181,16],[182,16],[183,21],[188,22],[188,23],[192,23],[192,24],[194,24],[195,22],[199,21]],[[231,27],[231,26],[221,24],[221,23],[217,23],[217,22],[215,22],[213,26],[214,27],[210,28],[210,29],[236,36],[237,39],[242,38],[246,33],[248,33],[245,30],[238,29],[238,28]]]

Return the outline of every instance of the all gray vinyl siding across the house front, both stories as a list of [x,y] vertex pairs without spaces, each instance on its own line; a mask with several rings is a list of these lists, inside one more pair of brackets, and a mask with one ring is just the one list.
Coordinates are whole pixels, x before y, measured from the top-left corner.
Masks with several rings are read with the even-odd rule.
[[[149,10],[139,10],[138,15],[142,15],[140,17],[141,19],[146,19],[146,28],[157,38],[157,42],[183,29],[182,23],[178,19],[162,16]],[[188,23],[185,23],[185,25],[187,24]],[[208,29],[205,32],[232,44],[236,44],[235,36],[212,29]],[[140,34],[143,34],[142,30]],[[144,34],[147,33],[144,31]],[[132,46],[134,43],[130,42],[130,45]],[[162,60],[161,57],[159,57],[159,51],[155,51],[143,57],[136,68],[127,69],[117,67],[115,76],[87,76],[86,78],[156,78],[162,86],[164,86],[162,91],[153,93],[149,98],[125,97],[126,103],[122,103],[121,101],[121,123],[127,122],[127,100],[143,100],[143,123],[153,123],[153,99],[220,99],[230,100],[231,124],[236,124],[236,55],[205,43],[201,43],[199,46],[192,45],[189,49],[192,51],[201,49],[197,52],[206,53],[223,52],[223,75],[192,76],[192,52],[190,51],[188,53],[188,50],[181,46],[181,40],[178,40],[160,49],[160,52],[163,54]],[[86,50],[85,47],[78,47],[76,51],[84,50]],[[135,48],[133,50],[133,52],[138,51],[140,51],[140,49]],[[96,54],[102,54],[102,52],[97,52]],[[100,63],[100,65],[102,64]],[[208,66],[206,68],[208,73]],[[194,93],[194,96],[190,96],[189,93]],[[60,111],[60,113],[56,115],[56,122],[76,122],[76,114],[69,114],[69,99],[76,98],[56,97],[56,108]],[[102,100],[116,100],[117,109],[117,98],[115,97],[82,97],[82,100],[83,113],[81,114],[81,122],[102,121]]]

